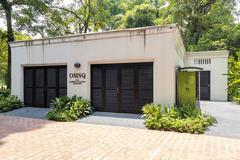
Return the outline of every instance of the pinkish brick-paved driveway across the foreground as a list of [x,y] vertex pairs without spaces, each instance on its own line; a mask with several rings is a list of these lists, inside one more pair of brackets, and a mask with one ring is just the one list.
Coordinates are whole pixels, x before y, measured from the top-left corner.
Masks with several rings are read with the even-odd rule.
[[240,159],[240,140],[0,116],[0,159]]

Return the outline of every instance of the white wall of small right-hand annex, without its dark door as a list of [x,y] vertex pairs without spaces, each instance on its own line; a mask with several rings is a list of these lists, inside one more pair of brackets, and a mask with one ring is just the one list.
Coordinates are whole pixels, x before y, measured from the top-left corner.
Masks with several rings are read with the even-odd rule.
[[[211,64],[194,64],[194,59],[210,58]],[[227,51],[206,51],[188,53],[187,66],[201,67],[210,71],[210,99],[212,101],[227,101]]]

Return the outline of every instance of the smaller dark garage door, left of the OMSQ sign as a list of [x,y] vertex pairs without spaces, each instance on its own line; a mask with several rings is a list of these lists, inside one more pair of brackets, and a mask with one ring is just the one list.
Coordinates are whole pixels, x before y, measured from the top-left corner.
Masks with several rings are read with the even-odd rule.
[[55,97],[66,95],[66,66],[24,68],[25,105],[48,107]]

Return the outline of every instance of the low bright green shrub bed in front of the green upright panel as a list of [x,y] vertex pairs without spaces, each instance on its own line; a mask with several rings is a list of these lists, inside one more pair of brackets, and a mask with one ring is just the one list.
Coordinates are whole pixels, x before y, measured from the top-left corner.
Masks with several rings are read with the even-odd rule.
[[200,109],[191,106],[170,107],[160,104],[146,104],[143,107],[145,125],[149,129],[201,134],[216,119],[204,115]]

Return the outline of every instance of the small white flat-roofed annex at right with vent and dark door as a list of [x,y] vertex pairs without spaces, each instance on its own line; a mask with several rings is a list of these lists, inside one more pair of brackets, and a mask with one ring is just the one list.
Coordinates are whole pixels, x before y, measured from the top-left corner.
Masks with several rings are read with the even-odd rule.
[[202,99],[227,101],[227,51],[189,52],[186,65],[203,68]]

